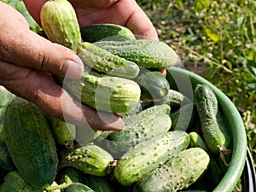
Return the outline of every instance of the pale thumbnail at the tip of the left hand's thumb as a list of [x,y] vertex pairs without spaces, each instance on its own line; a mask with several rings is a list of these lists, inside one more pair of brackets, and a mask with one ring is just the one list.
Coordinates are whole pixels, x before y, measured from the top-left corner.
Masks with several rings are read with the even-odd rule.
[[83,61],[81,61],[79,57],[75,61],[65,61],[63,67],[61,68],[61,73],[68,79],[80,79],[84,73]]

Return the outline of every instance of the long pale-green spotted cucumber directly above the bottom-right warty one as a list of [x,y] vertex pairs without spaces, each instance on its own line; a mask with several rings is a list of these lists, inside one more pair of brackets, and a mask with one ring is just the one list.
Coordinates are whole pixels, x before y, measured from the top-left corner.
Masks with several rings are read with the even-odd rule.
[[122,185],[129,186],[162,166],[188,145],[189,135],[185,131],[169,131],[139,143],[117,161],[114,177]]

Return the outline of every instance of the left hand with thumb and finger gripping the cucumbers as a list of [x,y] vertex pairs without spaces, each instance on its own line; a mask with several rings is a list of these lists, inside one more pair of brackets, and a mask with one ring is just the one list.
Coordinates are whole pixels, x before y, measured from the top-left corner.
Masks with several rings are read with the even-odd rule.
[[[38,1],[34,1],[38,2]],[[55,84],[51,74],[79,79],[83,63],[70,49],[53,44],[29,30],[25,18],[0,2],[0,84],[16,96],[34,102],[44,112],[75,125],[121,130],[122,119],[81,106]],[[68,73],[67,73],[68,70]],[[87,125],[88,126],[88,125]]]

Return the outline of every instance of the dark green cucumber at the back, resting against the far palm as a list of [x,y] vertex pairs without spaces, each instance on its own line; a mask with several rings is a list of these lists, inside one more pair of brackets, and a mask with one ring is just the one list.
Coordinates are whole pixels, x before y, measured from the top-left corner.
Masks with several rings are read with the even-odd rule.
[[125,41],[136,40],[136,37],[125,26],[111,23],[94,24],[81,27],[81,35],[84,42],[94,43],[96,41]]

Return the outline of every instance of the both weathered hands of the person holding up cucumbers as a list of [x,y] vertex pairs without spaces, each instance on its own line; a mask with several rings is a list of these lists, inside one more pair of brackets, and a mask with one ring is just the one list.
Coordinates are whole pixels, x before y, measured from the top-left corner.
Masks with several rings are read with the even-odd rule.
[[[40,9],[45,0],[26,0],[27,9],[40,24]],[[93,23],[116,23],[132,32],[157,39],[148,17],[133,0],[71,1],[80,26]],[[75,125],[98,130],[122,130],[124,122],[113,113],[98,113],[81,106],[66,90],[55,84],[51,74],[79,79],[83,63],[70,49],[53,44],[29,30],[25,18],[0,2],[0,84],[16,96],[34,102],[44,112]]]

